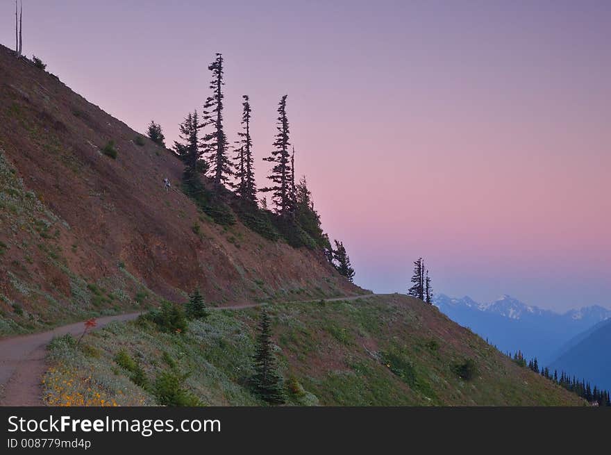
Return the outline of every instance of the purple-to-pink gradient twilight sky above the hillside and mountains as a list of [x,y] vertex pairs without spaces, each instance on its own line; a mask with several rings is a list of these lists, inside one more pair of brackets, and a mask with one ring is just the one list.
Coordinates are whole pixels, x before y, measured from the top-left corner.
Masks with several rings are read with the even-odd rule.
[[[154,3],[154,5],[153,5]],[[14,2],[0,42],[14,46]],[[288,94],[305,174],[355,282],[611,308],[610,1],[24,0],[24,53],[167,142],[226,61],[226,133],[253,108],[265,185]]]

